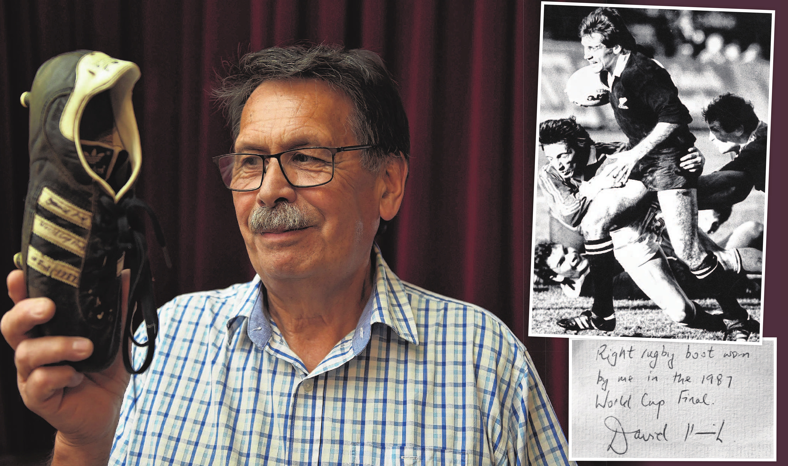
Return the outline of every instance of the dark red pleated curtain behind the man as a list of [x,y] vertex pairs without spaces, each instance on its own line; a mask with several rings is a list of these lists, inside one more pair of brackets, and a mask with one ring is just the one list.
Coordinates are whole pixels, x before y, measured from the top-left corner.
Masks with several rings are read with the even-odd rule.
[[[379,240],[386,259],[404,280],[498,315],[526,342],[566,426],[566,341],[526,337],[533,181],[524,167],[533,159],[524,155],[533,136],[529,130],[526,140],[525,128],[535,121],[525,109],[536,99],[524,70],[538,55],[524,46],[537,40],[538,8],[522,0],[0,2],[0,257],[7,259],[0,274],[13,268],[27,189],[28,110],[18,98],[46,59],[101,50],[142,69],[134,91],[143,143],[136,189],[158,214],[173,258],[167,270],[151,236],[163,304],[254,274],[230,193],[210,164],[232,143],[209,98],[222,62],[302,41],[375,50],[400,82],[411,124],[405,200]],[[3,300],[2,309],[10,307]],[[5,342],[0,364],[0,453],[50,448],[51,430],[21,403]]]

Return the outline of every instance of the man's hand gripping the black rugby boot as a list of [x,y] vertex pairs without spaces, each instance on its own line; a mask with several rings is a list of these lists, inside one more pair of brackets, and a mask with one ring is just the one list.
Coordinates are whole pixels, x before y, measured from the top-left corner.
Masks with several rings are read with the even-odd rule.
[[[126,315],[128,270],[122,279]],[[84,360],[93,344],[83,337],[30,337],[34,326],[52,318],[54,303],[43,297],[28,299],[21,270],[11,272],[7,282],[15,305],[3,315],[0,330],[15,352],[24,404],[58,429],[53,464],[106,464],[128,385],[122,358],[117,355],[105,371],[87,374],[65,364],[47,365]]]

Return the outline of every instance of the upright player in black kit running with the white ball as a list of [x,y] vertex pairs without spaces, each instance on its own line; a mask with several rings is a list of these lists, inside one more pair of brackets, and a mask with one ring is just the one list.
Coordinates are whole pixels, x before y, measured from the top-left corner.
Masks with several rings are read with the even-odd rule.
[[695,142],[689,131],[692,117],[678,99],[671,76],[656,60],[638,50],[637,43],[615,9],[600,7],[583,19],[579,35],[584,58],[607,82],[615,121],[629,139],[626,151],[605,168],[618,185],[627,180],[640,183],[615,189],[616,202],[589,212],[582,223],[594,303],[574,319],[562,319],[567,330],[615,328],[612,278],[615,266],[610,229],[615,218],[635,207],[647,192],[656,192],[665,227],[679,259],[716,296],[727,324],[727,337],[746,341],[760,324],[749,318],[730,294],[738,276],[723,268],[716,255],[706,251],[697,237],[697,178],[679,166]]

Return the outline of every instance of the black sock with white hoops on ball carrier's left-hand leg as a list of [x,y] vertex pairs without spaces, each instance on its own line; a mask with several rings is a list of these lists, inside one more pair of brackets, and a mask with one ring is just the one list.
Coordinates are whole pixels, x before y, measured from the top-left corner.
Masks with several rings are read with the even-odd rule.
[[585,241],[585,258],[589,260],[589,278],[593,282],[593,319],[615,319],[613,308],[613,270],[615,256],[610,237]]

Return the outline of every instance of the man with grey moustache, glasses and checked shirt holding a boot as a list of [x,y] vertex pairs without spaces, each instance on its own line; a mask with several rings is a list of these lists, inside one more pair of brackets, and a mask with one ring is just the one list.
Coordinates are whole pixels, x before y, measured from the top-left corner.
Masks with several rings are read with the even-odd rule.
[[54,306],[9,275],[3,334],[25,403],[58,429],[54,463],[566,464],[522,343],[489,311],[400,281],[374,245],[409,151],[381,59],[262,50],[217,96],[235,152],[214,162],[258,276],[159,309],[147,373],[46,365],[91,343],[26,337]]

